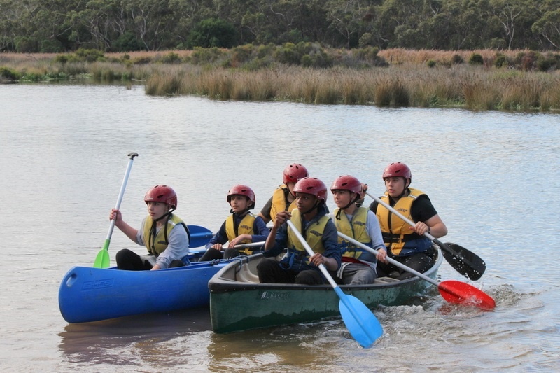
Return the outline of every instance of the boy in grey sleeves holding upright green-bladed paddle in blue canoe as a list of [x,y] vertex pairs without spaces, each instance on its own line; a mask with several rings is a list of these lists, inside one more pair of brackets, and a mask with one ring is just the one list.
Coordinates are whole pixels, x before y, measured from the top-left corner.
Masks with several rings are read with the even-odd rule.
[[144,202],[148,216],[139,230],[125,223],[117,209],[111,210],[109,215],[121,232],[137,244],[146,246],[149,253],[138,255],[127,248],[118,251],[118,269],[142,271],[187,265],[190,233],[183,220],[173,213],[177,208],[176,192],[167,185],[155,185],[146,193]]

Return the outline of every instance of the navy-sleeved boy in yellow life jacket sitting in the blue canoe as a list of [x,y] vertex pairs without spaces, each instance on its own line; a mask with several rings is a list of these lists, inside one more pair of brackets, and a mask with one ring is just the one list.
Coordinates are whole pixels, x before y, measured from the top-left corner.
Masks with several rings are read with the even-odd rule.
[[[200,258],[201,262],[214,259],[235,258],[238,255],[251,255],[253,248],[235,249],[233,246],[250,242],[263,242],[267,239],[269,229],[259,216],[249,210],[255,207],[255,193],[247,185],[234,185],[228,192],[231,215],[225,219],[218,233],[207,244],[207,252]],[[229,241],[223,251],[223,244]],[[254,252],[260,251],[260,249]]]

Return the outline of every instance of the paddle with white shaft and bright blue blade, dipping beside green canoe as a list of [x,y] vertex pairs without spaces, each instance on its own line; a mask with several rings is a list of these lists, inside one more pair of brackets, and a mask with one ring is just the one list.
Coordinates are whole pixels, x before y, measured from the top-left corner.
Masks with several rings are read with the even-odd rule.
[[[298,231],[293,225],[291,220],[287,220],[286,223],[288,223],[290,228],[293,230],[297,239],[300,240],[305,248],[305,251],[307,251],[309,255],[314,255],[313,250],[309,244],[307,244],[307,241],[305,241],[300,231]],[[348,328],[352,337],[356,339],[362,347],[366,349],[371,347],[375,340],[383,334],[381,324],[372,311],[368,309],[363,302],[352,295],[344,294],[342,289],[337,285],[337,283],[335,283],[335,280],[332,279],[332,276],[330,276],[324,265],[319,265],[319,269],[321,269],[321,272],[330,283],[330,286],[335,289],[335,293],[337,293],[340,298],[338,308],[346,328]]]

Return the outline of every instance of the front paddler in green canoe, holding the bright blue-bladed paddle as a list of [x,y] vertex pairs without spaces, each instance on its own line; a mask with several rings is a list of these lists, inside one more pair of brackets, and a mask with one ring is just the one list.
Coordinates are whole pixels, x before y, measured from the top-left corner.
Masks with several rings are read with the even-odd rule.
[[[295,184],[293,191],[297,208],[291,212],[276,213],[265,244],[265,256],[279,255],[284,248],[288,248],[288,253],[280,261],[262,259],[257,267],[258,278],[260,283],[320,285],[325,283],[325,278],[318,265],[325,265],[334,272],[340,267],[341,257],[337,228],[328,216],[327,187],[318,178],[306,177]],[[309,256],[297,235],[286,224],[290,219],[314,255]]]

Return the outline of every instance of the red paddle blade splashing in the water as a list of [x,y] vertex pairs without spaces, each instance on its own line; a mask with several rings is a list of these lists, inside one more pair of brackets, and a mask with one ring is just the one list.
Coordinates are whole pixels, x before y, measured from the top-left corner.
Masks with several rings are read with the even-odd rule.
[[437,287],[440,294],[449,303],[475,306],[484,311],[491,311],[496,307],[492,297],[482,290],[461,281],[442,281]]

